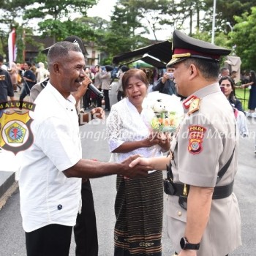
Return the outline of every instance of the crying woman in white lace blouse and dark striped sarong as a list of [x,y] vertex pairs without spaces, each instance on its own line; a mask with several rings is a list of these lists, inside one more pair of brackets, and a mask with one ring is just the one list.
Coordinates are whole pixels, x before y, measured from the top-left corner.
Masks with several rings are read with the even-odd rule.
[[[107,119],[110,162],[121,162],[133,154],[158,157],[168,151],[170,141],[154,137],[147,125],[148,109],[143,100],[148,89],[146,74],[129,69],[122,78],[125,97],[112,106]],[[115,256],[162,255],[162,172],[146,178],[116,180],[114,231]]]

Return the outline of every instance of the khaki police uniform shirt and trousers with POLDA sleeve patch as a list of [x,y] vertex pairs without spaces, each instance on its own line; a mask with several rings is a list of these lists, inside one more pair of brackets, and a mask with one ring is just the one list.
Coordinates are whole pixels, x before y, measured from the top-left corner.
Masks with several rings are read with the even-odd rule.
[[[174,183],[197,187],[230,184],[237,172],[238,132],[235,132],[233,110],[219,83],[188,97],[184,110],[186,116],[171,145]],[[217,183],[217,173],[232,154],[230,166]],[[178,196],[169,195],[167,230],[176,252],[181,251],[180,239],[185,233],[186,220],[187,211],[178,204]],[[197,256],[225,256],[241,245],[241,219],[234,193],[212,200],[210,217],[200,242]]]

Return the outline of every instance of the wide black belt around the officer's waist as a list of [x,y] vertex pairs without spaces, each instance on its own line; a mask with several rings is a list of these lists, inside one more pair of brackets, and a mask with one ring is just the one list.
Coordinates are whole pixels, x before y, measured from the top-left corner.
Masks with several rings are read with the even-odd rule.
[[[183,195],[184,184],[174,183],[173,185],[175,187],[175,193],[173,195]],[[225,197],[229,197],[233,192],[233,185],[234,181],[224,186],[214,187],[214,194],[212,195],[212,199],[222,199]],[[187,185],[187,187],[189,186]]]

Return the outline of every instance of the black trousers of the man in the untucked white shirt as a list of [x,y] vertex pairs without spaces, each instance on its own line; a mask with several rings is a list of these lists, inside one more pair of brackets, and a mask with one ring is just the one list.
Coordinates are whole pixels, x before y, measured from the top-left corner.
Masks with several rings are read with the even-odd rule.
[[27,256],[69,256],[72,227],[47,225],[26,233]]

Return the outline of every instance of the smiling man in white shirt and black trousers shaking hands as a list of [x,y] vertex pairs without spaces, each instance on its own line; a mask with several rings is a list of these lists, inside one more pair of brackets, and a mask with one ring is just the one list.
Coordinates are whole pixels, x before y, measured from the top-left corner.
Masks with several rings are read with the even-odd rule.
[[20,167],[20,211],[28,256],[68,256],[72,226],[80,202],[80,178],[121,174],[146,176],[148,167],[129,162],[82,159],[75,98],[86,75],[78,45],[57,42],[48,53],[50,80],[31,112],[34,143],[23,152]]

